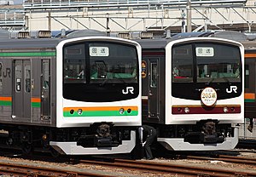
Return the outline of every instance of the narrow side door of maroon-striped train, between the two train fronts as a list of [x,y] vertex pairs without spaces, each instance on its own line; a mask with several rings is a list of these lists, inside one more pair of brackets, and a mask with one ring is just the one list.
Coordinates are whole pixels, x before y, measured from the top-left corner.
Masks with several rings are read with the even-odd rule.
[[148,119],[159,119],[159,67],[158,59],[149,59]]

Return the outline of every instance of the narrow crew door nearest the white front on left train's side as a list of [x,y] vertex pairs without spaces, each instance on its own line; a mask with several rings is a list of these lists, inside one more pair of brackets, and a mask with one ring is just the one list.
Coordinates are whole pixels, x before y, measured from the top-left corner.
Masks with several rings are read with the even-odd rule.
[[50,102],[49,102],[49,60],[42,60],[41,77],[41,114],[43,120],[49,120]]

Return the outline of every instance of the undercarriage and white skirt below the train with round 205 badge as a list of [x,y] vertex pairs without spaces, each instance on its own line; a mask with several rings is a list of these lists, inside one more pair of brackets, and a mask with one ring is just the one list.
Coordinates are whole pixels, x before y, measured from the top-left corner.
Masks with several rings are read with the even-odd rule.
[[171,151],[226,150],[233,149],[238,142],[238,127],[217,120],[168,125],[159,130],[158,141]]

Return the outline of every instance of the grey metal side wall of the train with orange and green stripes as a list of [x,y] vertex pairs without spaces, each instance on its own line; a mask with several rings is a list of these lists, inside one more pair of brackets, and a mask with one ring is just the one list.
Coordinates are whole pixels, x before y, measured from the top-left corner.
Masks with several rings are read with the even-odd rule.
[[[54,70],[49,66],[55,66],[55,49],[2,49],[1,55],[1,98],[6,100],[2,106],[9,113],[3,113],[0,121],[55,126],[55,109],[49,109],[53,94],[42,84],[49,80],[48,72]],[[55,85],[50,89],[55,90]]]

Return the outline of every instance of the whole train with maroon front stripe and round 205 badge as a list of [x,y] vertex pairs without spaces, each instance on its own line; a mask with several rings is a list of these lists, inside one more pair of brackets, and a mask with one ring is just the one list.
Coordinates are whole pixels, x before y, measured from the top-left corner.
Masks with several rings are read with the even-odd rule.
[[143,124],[168,151],[229,150],[244,122],[244,47],[182,33],[142,46]]

